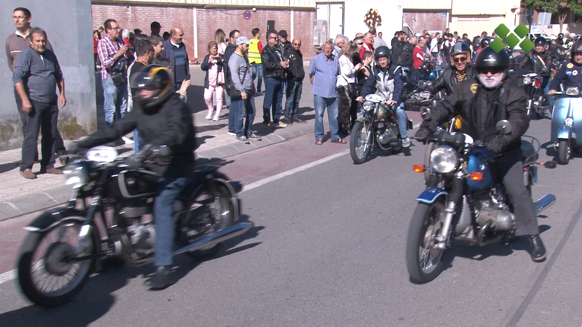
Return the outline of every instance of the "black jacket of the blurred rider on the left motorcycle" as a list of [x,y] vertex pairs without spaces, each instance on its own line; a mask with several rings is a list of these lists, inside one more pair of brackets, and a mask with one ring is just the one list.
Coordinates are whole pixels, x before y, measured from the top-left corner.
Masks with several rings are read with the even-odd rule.
[[168,166],[152,164],[152,171],[160,176],[192,177],[194,175],[194,123],[192,113],[178,94],[173,93],[155,112],[144,112],[134,102],[132,111],[115,120],[111,127],[91,134],[80,141],[81,148],[94,147],[118,140],[123,135],[137,129],[144,144],[167,145],[172,150]]

